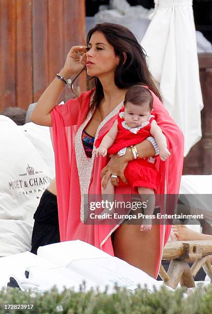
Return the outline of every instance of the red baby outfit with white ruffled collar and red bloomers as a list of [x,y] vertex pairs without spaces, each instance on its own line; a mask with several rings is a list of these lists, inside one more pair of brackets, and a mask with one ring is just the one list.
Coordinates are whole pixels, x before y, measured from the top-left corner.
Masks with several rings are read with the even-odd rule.
[[[147,139],[148,136],[151,136],[150,129],[153,119],[154,116],[151,116],[149,122],[143,123],[141,127],[126,129],[126,126],[123,126],[126,124],[124,121],[124,108],[121,109],[117,117],[118,132],[116,139],[113,145],[108,149],[108,154],[115,154],[124,147],[139,144]],[[98,148],[100,146],[104,135],[96,140],[95,147]],[[130,161],[125,169],[124,174],[131,187],[143,186],[156,191],[159,181],[159,173],[156,170],[155,164],[149,162],[148,160],[149,159],[147,158]],[[120,185],[126,186],[126,184],[124,184],[121,179],[119,186]]]

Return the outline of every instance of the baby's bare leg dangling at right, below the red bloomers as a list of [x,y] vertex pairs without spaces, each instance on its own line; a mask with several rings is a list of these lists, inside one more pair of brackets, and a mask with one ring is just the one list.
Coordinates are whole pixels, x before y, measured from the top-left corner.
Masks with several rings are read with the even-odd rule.
[[[142,203],[147,203],[147,208],[144,208],[145,215],[152,215],[155,208],[155,193],[153,189],[139,186],[138,193],[142,199]],[[140,225],[140,231],[149,231],[152,228],[152,220],[149,218],[143,219],[142,225]]]

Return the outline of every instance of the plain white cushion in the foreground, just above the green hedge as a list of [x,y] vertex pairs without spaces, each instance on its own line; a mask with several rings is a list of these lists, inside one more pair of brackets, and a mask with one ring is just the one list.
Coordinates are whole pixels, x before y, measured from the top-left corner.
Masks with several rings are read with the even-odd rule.
[[[95,282],[100,289],[108,286],[109,292],[114,291],[115,283],[132,290],[136,289],[138,284],[142,287],[147,285],[151,291],[154,291],[154,286],[158,289],[163,284],[162,281],[155,280],[144,271],[119,258],[111,257],[99,248],[80,240],[41,246],[38,248],[37,254],[42,259],[59,267],[67,267]],[[31,279],[35,280],[36,278],[38,276]]]

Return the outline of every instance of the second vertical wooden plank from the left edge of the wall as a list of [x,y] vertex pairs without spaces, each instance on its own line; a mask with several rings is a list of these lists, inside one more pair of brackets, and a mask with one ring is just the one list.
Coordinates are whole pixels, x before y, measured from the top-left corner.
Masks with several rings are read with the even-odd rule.
[[17,4],[17,106],[27,109],[33,102],[32,82],[32,0]]

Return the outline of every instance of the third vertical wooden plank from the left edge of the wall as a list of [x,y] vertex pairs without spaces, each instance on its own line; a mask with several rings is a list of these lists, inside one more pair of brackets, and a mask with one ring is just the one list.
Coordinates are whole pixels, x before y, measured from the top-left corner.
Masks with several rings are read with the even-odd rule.
[[48,60],[48,3],[47,0],[33,0],[32,3],[32,45],[33,45],[33,102],[49,84]]

